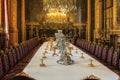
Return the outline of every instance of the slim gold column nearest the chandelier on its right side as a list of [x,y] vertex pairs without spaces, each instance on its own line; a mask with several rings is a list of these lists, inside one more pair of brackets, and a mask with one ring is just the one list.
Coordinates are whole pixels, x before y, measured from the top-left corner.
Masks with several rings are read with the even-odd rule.
[[87,41],[90,41],[90,27],[91,27],[91,0],[87,0]]

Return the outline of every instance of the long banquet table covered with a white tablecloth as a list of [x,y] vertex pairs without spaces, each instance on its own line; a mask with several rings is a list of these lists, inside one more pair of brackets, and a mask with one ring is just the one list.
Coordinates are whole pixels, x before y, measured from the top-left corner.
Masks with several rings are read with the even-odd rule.
[[[119,80],[119,76],[116,73],[72,44],[71,59],[74,60],[74,64],[58,64],[57,60],[60,58],[59,50],[56,51],[59,56],[52,56],[53,52],[50,51],[50,47],[48,47],[46,53],[47,59],[44,60],[46,67],[40,67],[40,59],[43,56],[42,53],[47,43],[48,42],[43,43],[23,70],[23,72],[29,74],[36,80],[82,80],[89,75],[94,75],[100,80]],[[83,53],[84,58],[80,58],[81,53]],[[93,60],[94,67],[88,66],[90,63],[89,59]]]

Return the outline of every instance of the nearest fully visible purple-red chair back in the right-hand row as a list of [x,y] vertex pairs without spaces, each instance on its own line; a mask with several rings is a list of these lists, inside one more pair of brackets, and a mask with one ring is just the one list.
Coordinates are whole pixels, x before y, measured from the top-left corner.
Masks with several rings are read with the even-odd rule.
[[118,50],[114,51],[114,52],[113,52],[113,57],[112,57],[112,65],[113,65],[115,68],[118,68],[119,58],[120,58],[119,51],[118,51]]

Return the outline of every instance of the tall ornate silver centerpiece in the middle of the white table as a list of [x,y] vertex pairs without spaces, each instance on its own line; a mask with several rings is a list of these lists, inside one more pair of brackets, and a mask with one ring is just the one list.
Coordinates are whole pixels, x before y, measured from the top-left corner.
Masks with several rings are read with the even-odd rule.
[[62,30],[58,30],[55,47],[59,49],[59,53],[61,54],[60,59],[57,60],[57,63],[59,64],[70,65],[74,63],[69,53],[67,52],[67,45],[68,45],[68,42],[64,34],[62,33]]

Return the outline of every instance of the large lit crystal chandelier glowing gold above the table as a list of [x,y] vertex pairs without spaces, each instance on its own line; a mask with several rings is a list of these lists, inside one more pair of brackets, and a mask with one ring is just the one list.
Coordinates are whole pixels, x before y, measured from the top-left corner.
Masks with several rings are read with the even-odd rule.
[[67,23],[67,13],[76,10],[76,0],[44,0],[47,23]]

